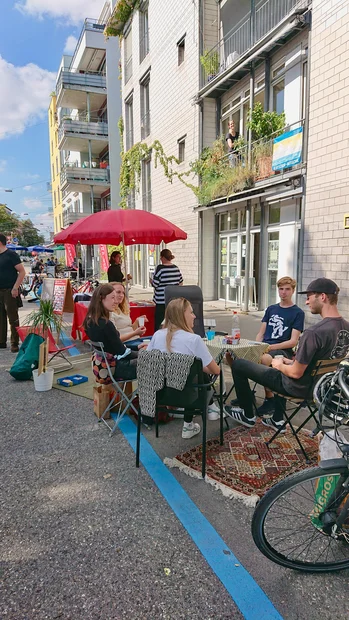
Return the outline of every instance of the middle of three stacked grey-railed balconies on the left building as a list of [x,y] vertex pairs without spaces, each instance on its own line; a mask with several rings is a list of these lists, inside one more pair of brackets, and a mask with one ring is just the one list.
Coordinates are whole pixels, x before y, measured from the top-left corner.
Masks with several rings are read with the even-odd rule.
[[98,155],[108,145],[108,123],[97,119],[88,122],[79,117],[62,119],[58,129],[60,150],[87,153],[89,141],[92,155]]

